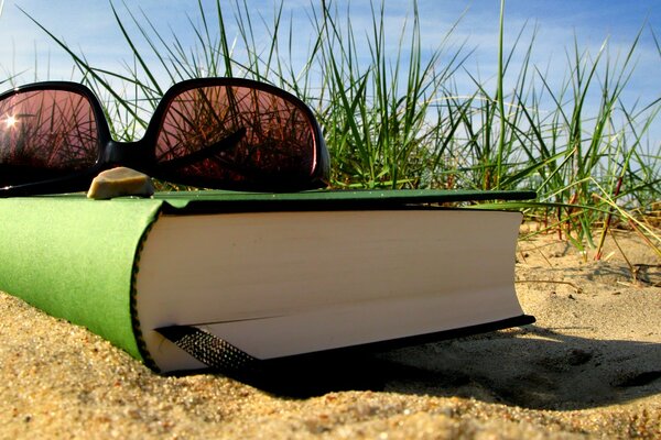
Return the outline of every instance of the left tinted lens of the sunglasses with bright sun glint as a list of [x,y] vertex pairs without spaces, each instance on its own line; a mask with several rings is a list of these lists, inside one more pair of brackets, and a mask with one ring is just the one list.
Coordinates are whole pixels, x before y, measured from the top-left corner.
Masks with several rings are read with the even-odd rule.
[[98,130],[89,100],[68,90],[18,91],[0,101],[0,187],[94,165]]

